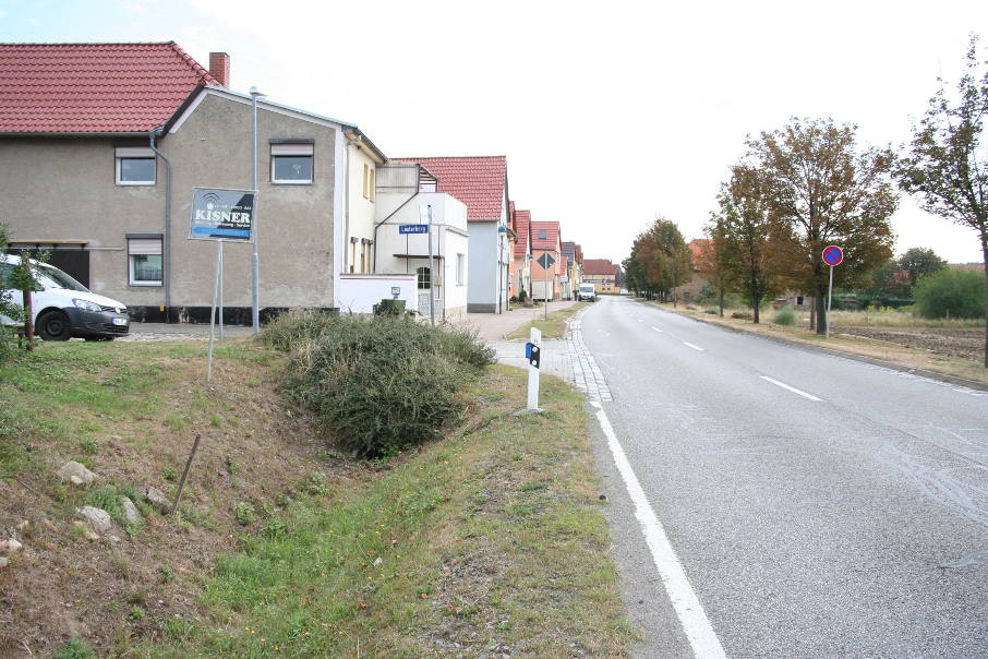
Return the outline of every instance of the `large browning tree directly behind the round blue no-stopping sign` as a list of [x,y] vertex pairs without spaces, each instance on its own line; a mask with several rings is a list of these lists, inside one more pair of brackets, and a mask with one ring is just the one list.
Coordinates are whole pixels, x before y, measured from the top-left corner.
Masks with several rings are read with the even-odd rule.
[[877,148],[858,152],[856,131],[831,119],[793,118],[782,130],[747,142],[749,161],[764,177],[772,217],[785,227],[787,249],[799,255],[786,278],[815,291],[819,334],[827,332],[823,248],[844,248],[835,287],[853,288],[892,256],[889,218],[899,203],[889,181],[893,157]]

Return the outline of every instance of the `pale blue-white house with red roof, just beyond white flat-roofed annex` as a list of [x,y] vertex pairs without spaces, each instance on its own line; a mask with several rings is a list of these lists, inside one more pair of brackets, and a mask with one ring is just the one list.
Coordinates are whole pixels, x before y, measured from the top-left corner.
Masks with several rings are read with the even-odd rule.
[[417,163],[445,192],[467,205],[467,311],[508,309],[510,249],[507,158],[505,156],[393,158]]

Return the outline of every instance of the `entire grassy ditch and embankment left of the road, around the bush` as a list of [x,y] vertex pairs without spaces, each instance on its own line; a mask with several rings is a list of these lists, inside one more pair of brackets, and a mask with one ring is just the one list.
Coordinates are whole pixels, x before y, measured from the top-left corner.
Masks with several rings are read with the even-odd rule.
[[[571,388],[543,379],[547,414],[516,418],[523,373],[490,367],[445,440],[359,463],[282,406],[278,354],[217,355],[212,386],[201,343],[43,345],[0,370],[0,518],[29,520],[0,572],[0,655],[70,637],[137,657],[627,652]],[[179,516],[143,506],[120,542],[73,530],[95,490],[51,469],[173,493],[197,432]]]

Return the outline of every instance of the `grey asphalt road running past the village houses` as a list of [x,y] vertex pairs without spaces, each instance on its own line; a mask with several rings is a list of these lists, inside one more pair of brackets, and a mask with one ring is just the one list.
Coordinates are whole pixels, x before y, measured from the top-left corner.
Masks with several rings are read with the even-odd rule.
[[[988,394],[623,298],[581,320],[727,656],[988,656]],[[625,554],[655,600],[643,654],[691,655],[650,556]]]

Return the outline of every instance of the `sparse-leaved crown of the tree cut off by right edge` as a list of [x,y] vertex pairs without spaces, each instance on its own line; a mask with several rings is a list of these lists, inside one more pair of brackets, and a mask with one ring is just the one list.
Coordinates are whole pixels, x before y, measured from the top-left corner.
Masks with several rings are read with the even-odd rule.
[[[919,125],[913,127],[909,153],[896,166],[900,187],[917,196],[933,215],[971,227],[981,245],[988,296],[988,153],[981,147],[988,115],[988,61],[977,58],[976,36],[967,48],[966,71],[957,97],[948,97],[943,80]],[[979,68],[985,67],[979,72]],[[988,313],[988,298],[986,298]],[[985,327],[988,368],[988,324]]]

